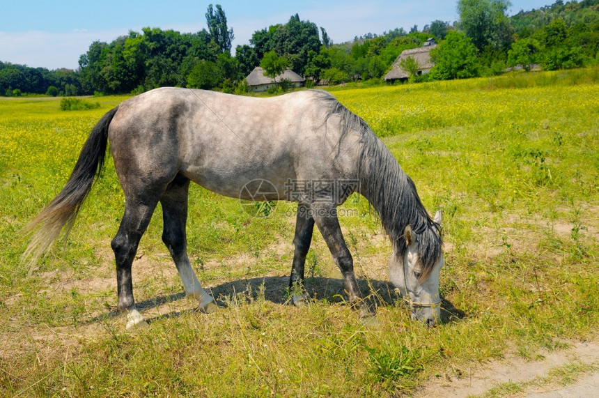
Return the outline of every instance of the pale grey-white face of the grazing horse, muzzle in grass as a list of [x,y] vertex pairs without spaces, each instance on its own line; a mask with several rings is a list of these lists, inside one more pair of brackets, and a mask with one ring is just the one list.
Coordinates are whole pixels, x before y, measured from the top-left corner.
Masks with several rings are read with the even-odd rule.
[[[441,224],[440,211],[435,214],[434,221]],[[436,263],[431,264],[432,267],[424,269],[423,253],[410,225],[405,227],[404,238],[406,250],[403,254],[394,250],[389,259],[391,283],[410,301],[412,319],[419,319],[427,326],[435,326],[441,321],[439,274],[444,264],[443,254],[439,254]]]

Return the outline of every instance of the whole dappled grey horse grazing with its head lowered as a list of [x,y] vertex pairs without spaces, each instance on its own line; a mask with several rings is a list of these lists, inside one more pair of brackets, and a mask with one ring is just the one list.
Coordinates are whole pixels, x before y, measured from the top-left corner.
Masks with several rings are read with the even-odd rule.
[[[329,93],[251,98],[162,88],[125,100],[95,125],[65,187],[31,222],[25,259],[37,261],[63,229],[68,234],[100,176],[108,141],[125,194],[125,215],[111,247],[118,310],[127,314],[127,328],[143,322],[135,307],[131,268],[158,202],[164,217],[162,240],[185,292],[199,300],[203,311],[217,308],[187,257],[190,181],[240,199],[254,199],[260,182],[267,182],[270,189],[260,199],[296,201],[290,285],[303,286],[316,224],[341,270],[350,303],[361,316],[371,316],[374,311],[361,297],[336,214],[337,206],[359,192],[378,212],[391,239],[390,279],[410,300],[412,319],[430,326],[439,321],[440,218],[431,220],[389,149]],[[300,294],[293,301],[306,297]]]

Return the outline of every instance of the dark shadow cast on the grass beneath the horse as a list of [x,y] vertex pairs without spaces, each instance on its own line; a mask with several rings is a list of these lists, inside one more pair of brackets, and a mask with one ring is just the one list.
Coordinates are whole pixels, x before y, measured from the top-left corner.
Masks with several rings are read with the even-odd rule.
[[[358,286],[362,295],[371,305],[394,306],[403,305],[402,299],[389,282],[380,280],[358,280]],[[240,301],[251,302],[255,300],[267,300],[277,305],[290,303],[289,277],[255,277],[251,279],[235,280],[226,282],[208,289],[217,299],[219,307],[229,307],[239,304]],[[312,300],[324,303],[346,303],[343,280],[328,277],[306,277],[305,289]],[[185,293],[173,293],[170,295],[157,296],[152,299],[137,302],[137,308],[143,312],[145,309],[160,307],[185,298]],[[160,316],[146,319],[148,323],[158,319],[176,318],[185,312],[197,312],[198,309],[184,309],[182,311],[171,311]],[[95,316],[89,323],[114,318],[118,312],[112,310],[108,314]],[[449,300],[442,299],[441,321],[451,323],[466,317],[465,312],[457,309]]]

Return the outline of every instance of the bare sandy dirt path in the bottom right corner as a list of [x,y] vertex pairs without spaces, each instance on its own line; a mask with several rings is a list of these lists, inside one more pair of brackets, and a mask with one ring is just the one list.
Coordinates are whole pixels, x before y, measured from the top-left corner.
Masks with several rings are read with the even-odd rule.
[[[527,383],[546,377],[552,369],[576,363],[579,365],[599,365],[599,342],[575,342],[566,350],[541,352],[542,360],[527,361],[513,355],[504,360],[490,360],[473,363],[467,374],[430,380],[425,388],[414,397],[468,397],[483,395],[502,383]],[[584,377],[585,375],[581,375]],[[549,384],[542,388],[529,388],[520,396],[532,393],[555,391],[562,386]],[[561,396],[561,395],[559,395]]]

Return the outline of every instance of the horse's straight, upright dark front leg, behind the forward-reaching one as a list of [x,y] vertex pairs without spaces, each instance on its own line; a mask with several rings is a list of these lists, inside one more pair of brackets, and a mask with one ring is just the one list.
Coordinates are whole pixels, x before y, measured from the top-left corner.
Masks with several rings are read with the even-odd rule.
[[304,266],[306,265],[306,255],[310,250],[313,231],[314,218],[310,214],[309,206],[298,204],[295,237],[293,238],[295,252],[293,254],[291,276],[289,277],[289,289],[293,294],[292,301],[294,305],[302,305],[306,300],[309,300],[309,295],[304,289]]

